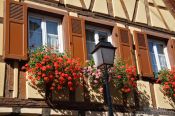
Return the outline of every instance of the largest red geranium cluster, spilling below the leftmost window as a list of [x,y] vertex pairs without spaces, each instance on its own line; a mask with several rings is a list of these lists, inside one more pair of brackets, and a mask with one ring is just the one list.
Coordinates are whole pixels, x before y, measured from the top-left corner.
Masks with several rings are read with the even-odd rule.
[[79,60],[46,47],[32,52],[30,61],[23,69],[28,72],[28,79],[33,85],[40,87],[50,85],[52,91],[63,89],[74,91],[82,77]]

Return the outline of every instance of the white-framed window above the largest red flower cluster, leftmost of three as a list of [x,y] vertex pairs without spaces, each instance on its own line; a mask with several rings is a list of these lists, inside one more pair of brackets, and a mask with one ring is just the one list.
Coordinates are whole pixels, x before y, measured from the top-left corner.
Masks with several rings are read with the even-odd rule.
[[29,48],[36,49],[41,45],[63,52],[61,20],[57,18],[29,15]]

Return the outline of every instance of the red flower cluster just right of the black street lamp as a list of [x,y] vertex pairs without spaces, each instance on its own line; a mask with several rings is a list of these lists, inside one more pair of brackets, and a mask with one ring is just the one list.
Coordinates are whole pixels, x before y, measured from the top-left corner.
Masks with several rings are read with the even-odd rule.
[[124,94],[130,94],[137,87],[136,67],[119,60],[111,70],[114,85]]

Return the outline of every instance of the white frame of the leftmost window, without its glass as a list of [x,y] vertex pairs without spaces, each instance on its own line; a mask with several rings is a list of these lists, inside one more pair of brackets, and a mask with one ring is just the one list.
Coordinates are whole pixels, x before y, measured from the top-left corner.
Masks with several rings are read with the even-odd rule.
[[[29,19],[30,18],[35,18],[35,19],[41,19],[41,32],[42,32],[42,45],[47,45],[47,27],[46,27],[46,21],[50,21],[50,22],[56,22],[57,25],[57,36],[59,39],[59,48],[56,49],[59,52],[63,52],[64,51],[64,41],[63,41],[63,31],[62,31],[62,20],[61,18],[55,18],[55,17],[50,17],[47,15],[41,15],[41,14],[37,14],[37,13],[29,13],[28,14],[28,42],[30,39],[30,25],[29,25]],[[29,43],[28,43],[29,45]],[[30,49],[28,47],[28,49]]]

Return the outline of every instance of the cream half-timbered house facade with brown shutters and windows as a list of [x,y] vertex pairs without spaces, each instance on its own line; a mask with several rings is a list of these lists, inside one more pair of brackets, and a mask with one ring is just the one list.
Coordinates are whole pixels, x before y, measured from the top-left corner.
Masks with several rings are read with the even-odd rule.
[[156,83],[162,67],[175,65],[174,0],[0,0],[0,115],[107,116],[103,98],[87,98],[83,88],[48,102],[21,69],[28,51],[41,45],[70,50],[85,63],[100,37],[137,66],[145,93],[123,104],[111,87],[114,114],[174,116],[175,103]]

